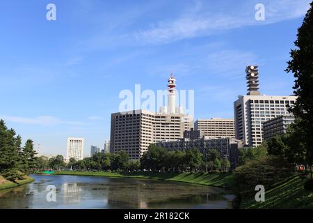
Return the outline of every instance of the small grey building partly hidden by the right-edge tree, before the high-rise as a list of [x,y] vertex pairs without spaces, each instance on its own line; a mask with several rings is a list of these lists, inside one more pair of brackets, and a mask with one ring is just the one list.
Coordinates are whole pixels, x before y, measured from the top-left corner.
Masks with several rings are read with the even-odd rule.
[[263,123],[263,138],[268,140],[276,134],[284,134],[287,132],[288,126],[294,123],[293,115],[283,115],[268,120]]

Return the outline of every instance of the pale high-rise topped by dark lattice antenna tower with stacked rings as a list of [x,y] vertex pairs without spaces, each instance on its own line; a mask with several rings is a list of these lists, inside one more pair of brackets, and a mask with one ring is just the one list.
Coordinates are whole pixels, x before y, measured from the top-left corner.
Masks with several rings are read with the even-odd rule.
[[270,96],[259,93],[257,66],[246,68],[247,95],[240,95],[234,102],[236,139],[247,146],[262,144],[262,124],[278,116],[289,114],[288,107],[296,102],[296,96]]

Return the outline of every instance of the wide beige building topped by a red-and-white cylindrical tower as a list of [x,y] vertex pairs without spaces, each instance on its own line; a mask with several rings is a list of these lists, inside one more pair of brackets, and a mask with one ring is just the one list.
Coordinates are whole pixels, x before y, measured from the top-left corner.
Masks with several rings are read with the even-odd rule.
[[172,76],[168,79],[168,107],[161,112],[138,109],[111,114],[111,153],[125,150],[135,160],[150,144],[181,139],[184,130],[193,128],[193,117],[175,107],[175,81]]

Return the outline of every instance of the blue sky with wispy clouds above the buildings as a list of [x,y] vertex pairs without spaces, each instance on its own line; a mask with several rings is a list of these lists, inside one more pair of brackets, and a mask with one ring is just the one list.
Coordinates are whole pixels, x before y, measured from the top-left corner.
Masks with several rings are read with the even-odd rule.
[[[56,21],[46,6],[56,5]],[[265,20],[255,20],[255,5]],[[233,117],[245,66],[259,65],[266,95],[290,95],[284,72],[310,0],[1,2],[0,118],[65,155],[67,137],[103,147],[120,91],[195,90],[195,119]]]

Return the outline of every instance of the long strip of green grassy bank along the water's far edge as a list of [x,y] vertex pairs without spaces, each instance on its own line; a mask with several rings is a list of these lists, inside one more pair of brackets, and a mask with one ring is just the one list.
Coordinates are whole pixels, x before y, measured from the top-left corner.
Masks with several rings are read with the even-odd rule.
[[196,183],[215,187],[232,187],[234,176],[232,173],[151,173],[151,172],[106,172],[106,171],[56,171],[56,175],[77,175],[77,176],[107,176],[107,177],[127,177],[127,178],[147,178],[156,180],[171,180],[185,183]]

